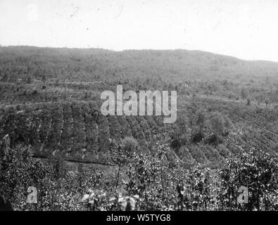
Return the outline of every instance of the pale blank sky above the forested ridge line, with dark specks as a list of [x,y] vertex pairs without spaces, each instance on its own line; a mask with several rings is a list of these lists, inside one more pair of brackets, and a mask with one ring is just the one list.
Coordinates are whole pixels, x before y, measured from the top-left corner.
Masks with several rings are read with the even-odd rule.
[[278,0],[0,0],[0,44],[188,49],[278,62]]

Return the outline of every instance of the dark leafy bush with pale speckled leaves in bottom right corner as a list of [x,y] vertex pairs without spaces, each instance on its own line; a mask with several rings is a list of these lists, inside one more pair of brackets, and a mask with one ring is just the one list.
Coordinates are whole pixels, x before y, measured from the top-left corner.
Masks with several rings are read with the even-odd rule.
[[[220,167],[220,201],[223,208],[237,210],[277,210],[278,165],[274,155],[257,150],[228,158]],[[248,188],[248,203],[239,205],[241,186]]]

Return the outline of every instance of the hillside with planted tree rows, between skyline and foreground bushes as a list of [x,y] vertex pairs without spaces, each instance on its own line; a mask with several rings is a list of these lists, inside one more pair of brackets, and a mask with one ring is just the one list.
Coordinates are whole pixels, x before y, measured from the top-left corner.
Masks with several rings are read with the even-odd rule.
[[[101,115],[101,92],[118,84],[177,91],[177,121]],[[32,148],[35,160],[59,158],[67,167],[77,165],[69,169],[77,173],[77,167],[97,168],[106,180],[116,177],[115,192],[127,182],[119,174],[128,182],[133,177],[125,173],[135,162],[119,163],[131,153],[115,151],[125,150],[127,139],[137,145],[132,153],[146,158],[167,149],[168,162],[172,158],[187,172],[202,167],[204,174],[213,169],[213,176],[243,153],[272,155],[277,165],[278,63],[201,51],[0,47],[0,110],[0,139],[8,136],[8,148]]]

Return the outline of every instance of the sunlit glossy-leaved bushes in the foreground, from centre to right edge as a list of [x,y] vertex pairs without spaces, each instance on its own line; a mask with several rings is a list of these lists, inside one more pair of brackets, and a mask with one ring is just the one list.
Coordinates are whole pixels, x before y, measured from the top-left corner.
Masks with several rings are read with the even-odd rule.
[[[160,142],[156,153],[134,153],[128,165],[120,195],[106,193],[111,198],[103,199],[102,193],[96,198],[102,209],[113,205],[114,210],[277,210],[277,162],[263,152],[228,158],[212,172],[200,164],[186,169]],[[238,200],[242,186],[248,190],[245,204]]]

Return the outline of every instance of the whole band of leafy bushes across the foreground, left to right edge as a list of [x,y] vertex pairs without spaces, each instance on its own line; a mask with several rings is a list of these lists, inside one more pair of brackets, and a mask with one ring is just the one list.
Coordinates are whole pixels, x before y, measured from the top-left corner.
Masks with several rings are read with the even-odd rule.
[[[134,140],[114,143],[115,172],[66,169],[61,158],[32,158],[32,148],[1,143],[1,192],[15,210],[278,210],[277,161],[244,152],[217,170],[181,162],[159,141],[153,154],[134,151]],[[88,176],[89,175],[89,176]],[[37,188],[37,204],[27,189]],[[240,204],[239,188],[248,188]]]

